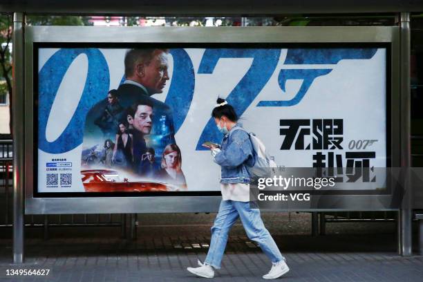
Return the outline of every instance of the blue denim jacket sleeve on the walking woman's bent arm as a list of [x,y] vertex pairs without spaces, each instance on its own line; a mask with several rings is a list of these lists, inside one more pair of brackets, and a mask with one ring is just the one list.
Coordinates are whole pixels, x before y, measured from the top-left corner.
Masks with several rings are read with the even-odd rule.
[[250,136],[243,130],[236,130],[229,134],[229,144],[214,160],[222,167],[238,167],[252,156]]

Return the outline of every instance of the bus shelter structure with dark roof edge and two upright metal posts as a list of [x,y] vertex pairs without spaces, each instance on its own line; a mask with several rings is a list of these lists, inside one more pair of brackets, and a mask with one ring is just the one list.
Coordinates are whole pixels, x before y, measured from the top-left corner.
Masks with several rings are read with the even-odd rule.
[[[24,167],[28,156],[25,148],[25,15],[139,15],[160,17],[255,17],[279,15],[363,15],[368,13],[393,14],[400,30],[399,86],[400,142],[396,148],[399,167],[411,167],[410,140],[410,19],[411,13],[423,10],[422,1],[3,1],[0,12],[13,13],[13,184],[14,184],[14,235],[13,257],[15,263],[23,262],[23,216],[25,214],[26,174]],[[341,35],[339,35],[341,36]],[[398,210],[398,252],[411,255],[411,220],[413,212],[413,187],[406,185],[401,208]],[[194,212],[194,211],[193,211]]]

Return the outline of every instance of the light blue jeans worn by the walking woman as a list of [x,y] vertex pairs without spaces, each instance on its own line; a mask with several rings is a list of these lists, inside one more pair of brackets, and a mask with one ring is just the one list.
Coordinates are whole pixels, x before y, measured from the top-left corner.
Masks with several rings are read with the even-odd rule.
[[255,207],[252,202],[238,202],[236,200],[222,200],[220,202],[219,212],[212,227],[212,241],[204,263],[212,265],[216,269],[220,268],[227,243],[227,235],[238,217],[241,218],[248,238],[259,243],[261,250],[272,263],[285,261],[272,236],[264,227],[263,220],[260,217],[260,209],[252,207]]

